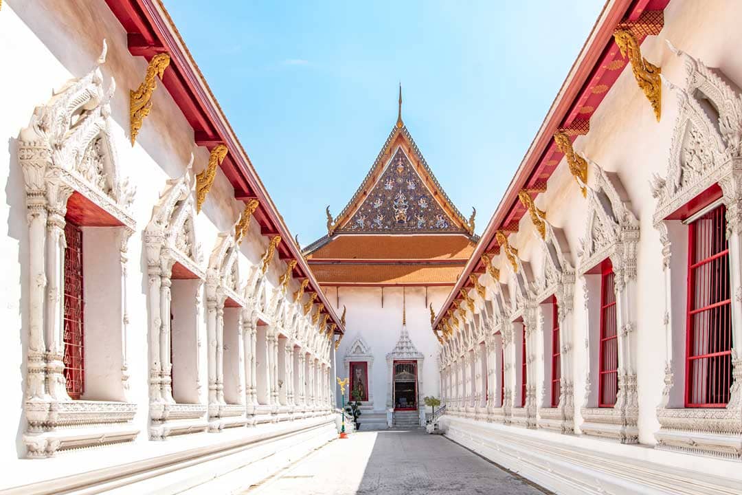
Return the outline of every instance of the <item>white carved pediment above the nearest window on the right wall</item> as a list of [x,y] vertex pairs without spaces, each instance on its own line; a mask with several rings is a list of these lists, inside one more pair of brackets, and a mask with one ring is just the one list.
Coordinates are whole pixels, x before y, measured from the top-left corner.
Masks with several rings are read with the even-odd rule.
[[667,217],[718,182],[723,169],[742,157],[742,94],[718,71],[670,45],[685,63],[685,88],[666,82],[677,94],[666,178],[654,176],[659,201],[654,221]]

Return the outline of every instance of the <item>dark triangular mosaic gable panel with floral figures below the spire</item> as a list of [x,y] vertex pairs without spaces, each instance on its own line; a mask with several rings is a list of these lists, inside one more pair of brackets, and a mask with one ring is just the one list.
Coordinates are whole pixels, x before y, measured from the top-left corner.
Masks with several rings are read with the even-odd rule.
[[407,154],[398,147],[370,194],[336,232],[467,233],[434,199]]

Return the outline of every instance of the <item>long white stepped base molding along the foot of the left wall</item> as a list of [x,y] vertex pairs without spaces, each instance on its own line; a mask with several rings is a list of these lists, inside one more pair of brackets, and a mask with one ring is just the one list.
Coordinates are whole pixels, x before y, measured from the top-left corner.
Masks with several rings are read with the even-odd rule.
[[[39,470],[32,462],[19,464],[5,476],[0,491],[8,495],[44,494],[173,494],[205,482],[219,482],[215,493],[246,489],[335,439],[335,415],[297,422],[232,428],[219,435],[180,436],[168,442],[128,444],[111,456],[80,450],[69,463]],[[85,473],[79,466],[85,465]],[[222,476],[224,478],[222,479]],[[18,480],[36,482],[17,485]],[[215,481],[214,481],[215,480]],[[12,488],[8,487],[8,483]],[[16,486],[13,486],[13,485]],[[211,486],[211,483],[210,483]],[[223,489],[222,489],[223,488]],[[4,491],[7,490],[7,491]]]

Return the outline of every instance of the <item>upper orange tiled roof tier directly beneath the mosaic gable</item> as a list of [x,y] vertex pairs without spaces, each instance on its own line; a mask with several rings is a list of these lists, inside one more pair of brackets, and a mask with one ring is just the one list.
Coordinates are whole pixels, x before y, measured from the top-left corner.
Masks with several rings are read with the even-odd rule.
[[[336,235],[308,260],[468,260],[476,243],[464,235]],[[315,263],[312,263],[315,270]]]

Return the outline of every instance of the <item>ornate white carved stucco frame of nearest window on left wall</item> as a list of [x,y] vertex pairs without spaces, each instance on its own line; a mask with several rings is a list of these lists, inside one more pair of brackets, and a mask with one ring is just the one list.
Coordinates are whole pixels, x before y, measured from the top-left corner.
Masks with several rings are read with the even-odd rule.
[[[111,134],[114,125],[110,102],[115,84],[111,80],[108,89],[104,88],[100,68],[106,51],[104,41],[93,69],[52,92],[49,102],[34,110],[18,138],[30,253],[29,336],[24,347],[27,428],[22,439],[31,458],[53,456],[71,448],[128,442],[139,433],[139,428],[131,424],[137,406],[128,402],[126,348],[127,246],[136,229],[130,213],[134,189],[119,177]],[[120,347],[119,383],[111,384],[111,393],[118,400],[71,400],[65,390],[60,304],[64,301],[65,214],[73,194],[105,216],[107,226],[119,229],[116,298],[121,316],[119,324],[112,326],[119,331],[105,335],[106,339],[115,338]]]

